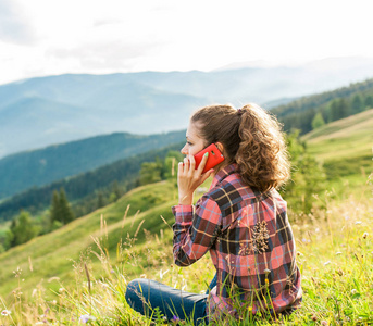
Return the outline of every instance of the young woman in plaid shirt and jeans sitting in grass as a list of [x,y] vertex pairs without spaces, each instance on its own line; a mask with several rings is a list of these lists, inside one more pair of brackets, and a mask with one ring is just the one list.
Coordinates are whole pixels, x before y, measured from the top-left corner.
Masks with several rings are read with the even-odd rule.
[[[302,291],[286,202],[276,191],[289,177],[277,121],[256,104],[207,106],[191,116],[186,139],[178,205],[172,208],[174,261],[188,266],[209,251],[216,268],[211,291],[194,294],[135,279],[127,302],[142,314],[159,308],[167,319],[195,325],[247,312],[291,313]],[[202,173],[208,156],[198,168],[194,156],[210,143],[225,160]],[[196,189],[211,175],[210,190],[192,205]]]

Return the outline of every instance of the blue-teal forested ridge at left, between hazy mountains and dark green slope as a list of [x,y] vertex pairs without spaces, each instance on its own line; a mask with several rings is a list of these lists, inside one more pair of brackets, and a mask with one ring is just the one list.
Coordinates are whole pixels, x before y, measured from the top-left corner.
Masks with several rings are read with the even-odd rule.
[[183,139],[185,130],[150,136],[115,133],[9,155],[0,160],[0,199]]

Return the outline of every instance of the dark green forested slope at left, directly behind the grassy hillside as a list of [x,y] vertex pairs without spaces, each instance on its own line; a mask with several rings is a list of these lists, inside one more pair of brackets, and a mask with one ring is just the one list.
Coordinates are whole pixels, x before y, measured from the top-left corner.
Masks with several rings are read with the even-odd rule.
[[[100,166],[71,178],[60,179],[42,187],[34,187],[17,193],[0,203],[0,222],[9,221],[20,213],[20,210],[33,214],[49,208],[54,190],[64,189],[77,216],[97,209],[99,193],[113,191],[113,185],[120,185],[120,196],[139,185],[139,173],[145,162],[163,161],[170,151],[181,149],[183,142],[170,145],[162,149],[126,158],[114,163]],[[154,163],[156,164],[156,163]],[[114,191],[116,191],[114,189]]]

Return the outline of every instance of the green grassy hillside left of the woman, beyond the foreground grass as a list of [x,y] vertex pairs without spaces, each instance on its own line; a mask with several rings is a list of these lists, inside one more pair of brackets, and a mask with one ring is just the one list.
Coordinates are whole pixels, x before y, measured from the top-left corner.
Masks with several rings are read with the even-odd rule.
[[[171,222],[170,208],[174,193],[173,186],[167,183],[136,188],[111,205],[78,218],[52,234],[35,238],[2,253],[0,255],[1,296],[9,298],[17,288],[17,279],[12,273],[17,267],[22,269],[21,277],[24,279],[22,288],[27,297],[42,279],[43,283],[48,283],[51,277],[59,277],[62,283],[66,283],[66,286],[71,285],[71,280],[74,279],[73,261],[79,261],[82,252],[91,258],[89,248],[97,251],[92,238],[105,239],[108,236],[107,249],[112,256],[115,256],[120,239],[125,241],[127,234],[134,237],[142,220],[141,231],[137,236],[138,243],[145,241],[144,228],[151,229],[152,233],[165,230],[167,226],[160,216]],[[128,205],[129,210],[124,220]],[[139,213],[136,215],[137,211]],[[48,286],[54,289],[57,286],[60,287],[58,284],[48,284]],[[48,293],[47,296],[49,297]]]

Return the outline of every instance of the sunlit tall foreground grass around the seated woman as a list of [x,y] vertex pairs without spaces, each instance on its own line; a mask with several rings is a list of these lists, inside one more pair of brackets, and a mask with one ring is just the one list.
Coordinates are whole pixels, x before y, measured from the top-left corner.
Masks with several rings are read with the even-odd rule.
[[[293,225],[304,292],[297,312],[286,318],[265,314],[253,318],[246,311],[240,321],[226,318],[221,325],[373,324],[371,177],[361,192],[360,198],[341,203],[326,199],[326,210],[314,210]],[[40,280],[30,294],[23,293],[24,271],[15,267],[17,287],[12,298],[0,297],[0,325],[151,325],[124,299],[135,274],[191,292],[204,292],[213,277],[208,255],[187,268],[173,265],[169,227],[151,233],[138,223],[133,236],[122,235],[115,256],[110,256],[110,236],[103,216],[101,233],[92,237],[95,246],[73,261],[74,283],[69,286],[52,277]],[[30,261],[28,265],[33,268]],[[159,312],[153,313],[154,324],[164,325]]]

